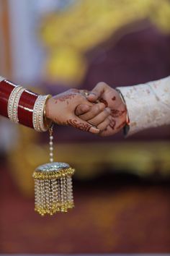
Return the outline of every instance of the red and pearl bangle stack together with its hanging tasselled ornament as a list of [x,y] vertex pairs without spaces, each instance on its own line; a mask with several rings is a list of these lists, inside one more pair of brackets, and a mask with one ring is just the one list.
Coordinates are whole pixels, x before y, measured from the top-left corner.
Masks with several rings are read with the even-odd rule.
[[50,95],[37,95],[0,77],[0,115],[37,132],[50,132],[50,163],[38,166],[34,173],[35,211],[44,216],[73,208],[72,178],[74,168],[53,162],[53,125],[46,119],[45,103]]

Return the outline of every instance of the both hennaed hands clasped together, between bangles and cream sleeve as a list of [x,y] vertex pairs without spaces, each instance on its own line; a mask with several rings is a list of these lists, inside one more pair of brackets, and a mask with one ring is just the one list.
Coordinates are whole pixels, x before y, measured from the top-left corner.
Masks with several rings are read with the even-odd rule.
[[71,89],[53,96],[47,102],[46,115],[57,124],[109,136],[125,126],[127,110],[117,90],[99,82],[89,95]]

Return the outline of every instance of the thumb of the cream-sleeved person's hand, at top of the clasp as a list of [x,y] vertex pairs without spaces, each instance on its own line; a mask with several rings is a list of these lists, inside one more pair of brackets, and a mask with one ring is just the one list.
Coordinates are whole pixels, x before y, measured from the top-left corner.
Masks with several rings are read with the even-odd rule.
[[88,101],[91,102],[95,102],[97,101],[102,94],[104,93],[104,91],[107,88],[107,84],[105,82],[99,82],[93,90],[91,90],[91,92],[89,93],[89,95],[87,96]]

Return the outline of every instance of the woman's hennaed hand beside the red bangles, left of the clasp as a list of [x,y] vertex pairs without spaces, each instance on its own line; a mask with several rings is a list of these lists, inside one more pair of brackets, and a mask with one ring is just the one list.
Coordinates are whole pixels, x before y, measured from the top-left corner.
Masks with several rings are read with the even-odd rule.
[[[76,116],[76,107],[79,105],[81,105],[81,111],[91,117],[91,123]],[[45,110],[46,117],[57,124],[70,125],[94,134],[98,134],[100,129],[99,127],[94,127],[93,119],[100,119],[101,127],[106,129],[108,126],[108,121],[106,120],[110,114],[109,111],[105,111],[104,103],[90,103],[77,89],[67,90],[64,93],[49,98]]]

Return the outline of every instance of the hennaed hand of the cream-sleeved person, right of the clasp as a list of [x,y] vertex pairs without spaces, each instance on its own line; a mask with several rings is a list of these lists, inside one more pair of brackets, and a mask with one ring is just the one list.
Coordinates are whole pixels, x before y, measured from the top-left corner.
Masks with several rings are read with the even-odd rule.
[[[105,104],[106,108],[110,108],[111,113],[107,117],[107,120],[109,119],[109,124],[107,125],[106,129],[99,132],[100,136],[115,135],[115,133],[119,132],[120,129],[125,126],[127,108],[117,90],[109,87],[109,85],[107,85],[105,82],[99,82],[96,87],[91,90],[91,93],[89,93],[87,99],[91,103],[100,101]],[[82,105],[77,106],[76,114],[79,116],[79,118],[89,122],[89,114],[84,113]],[[93,124],[97,128],[99,127],[95,121]]]

